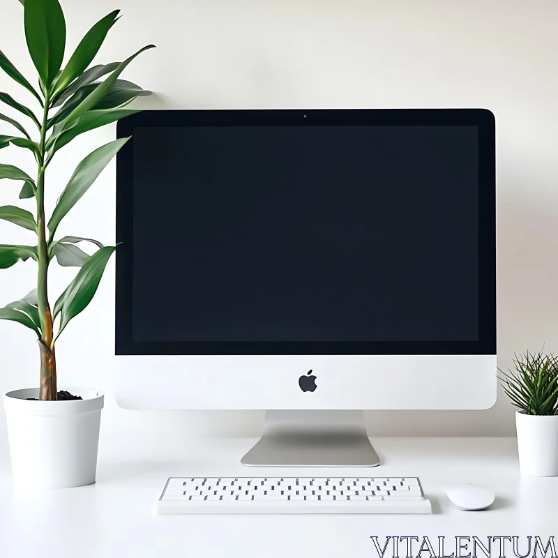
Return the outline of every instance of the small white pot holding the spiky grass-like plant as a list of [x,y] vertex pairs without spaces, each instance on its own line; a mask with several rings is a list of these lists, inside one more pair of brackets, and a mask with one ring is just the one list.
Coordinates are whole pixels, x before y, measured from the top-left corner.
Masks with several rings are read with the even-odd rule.
[[515,412],[521,472],[558,476],[558,415],[535,416]]

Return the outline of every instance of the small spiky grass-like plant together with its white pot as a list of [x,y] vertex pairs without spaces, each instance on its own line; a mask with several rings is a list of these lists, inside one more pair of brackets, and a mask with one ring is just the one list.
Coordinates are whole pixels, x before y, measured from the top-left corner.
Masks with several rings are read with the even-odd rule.
[[515,355],[513,368],[501,379],[519,409],[515,426],[521,472],[558,476],[558,356],[542,351]]

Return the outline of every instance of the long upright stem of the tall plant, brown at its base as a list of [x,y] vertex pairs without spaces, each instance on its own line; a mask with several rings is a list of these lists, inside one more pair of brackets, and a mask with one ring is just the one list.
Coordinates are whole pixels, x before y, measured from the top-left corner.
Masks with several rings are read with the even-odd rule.
[[43,121],[40,126],[40,156],[37,176],[37,236],[38,236],[38,277],[37,299],[40,316],[40,326],[43,335],[39,341],[40,347],[40,384],[39,399],[41,401],[56,400],[56,357],[54,356],[52,314],[48,303],[48,246],[45,224],[45,139],[47,135],[48,107],[50,105],[49,92],[45,94],[43,107]]

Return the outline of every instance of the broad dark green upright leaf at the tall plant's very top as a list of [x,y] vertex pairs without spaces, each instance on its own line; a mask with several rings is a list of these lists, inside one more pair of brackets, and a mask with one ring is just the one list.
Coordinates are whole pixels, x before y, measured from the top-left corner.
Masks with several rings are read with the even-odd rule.
[[66,22],[58,0],[27,0],[24,9],[27,48],[46,87],[62,65]]

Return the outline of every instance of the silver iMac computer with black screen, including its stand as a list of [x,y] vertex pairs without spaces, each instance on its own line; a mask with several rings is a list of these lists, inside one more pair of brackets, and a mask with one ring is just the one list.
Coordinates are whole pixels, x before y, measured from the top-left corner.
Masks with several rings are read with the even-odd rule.
[[490,111],[146,111],[118,136],[119,405],[266,409],[244,465],[361,467],[363,409],[493,405]]

